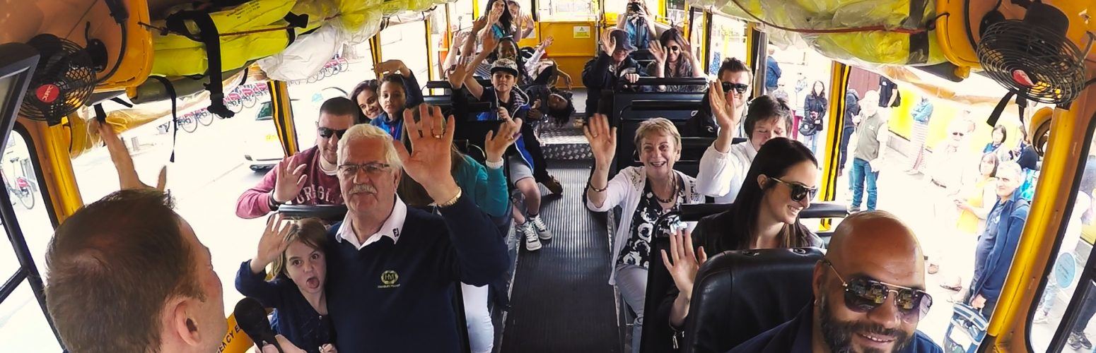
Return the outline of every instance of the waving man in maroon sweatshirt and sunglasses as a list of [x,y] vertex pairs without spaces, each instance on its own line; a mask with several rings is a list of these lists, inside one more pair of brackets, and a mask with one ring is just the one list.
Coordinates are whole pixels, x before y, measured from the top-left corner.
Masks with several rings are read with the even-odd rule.
[[285,203],[343,204],[335,150],[346,129],[358,122],[359,114],[357,105],[346,97],[323,102],[316,122],[316,145],[283,158],[258,185],[243,191],[236,201],[236,215],[261,217]]

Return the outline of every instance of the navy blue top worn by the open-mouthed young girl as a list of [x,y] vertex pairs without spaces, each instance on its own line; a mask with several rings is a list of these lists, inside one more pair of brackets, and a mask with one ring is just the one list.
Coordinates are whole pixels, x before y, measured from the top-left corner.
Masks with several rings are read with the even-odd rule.
[[236,290],[258,299],[264,307],[277,309],[274,329],[301,350],[319,352],[320,345],[334,343],[331,318],[317,313],[297,284],[281,276],[270,282],[265,279],[266,271],[252,273],[251,260],[243,261],[236,272]]

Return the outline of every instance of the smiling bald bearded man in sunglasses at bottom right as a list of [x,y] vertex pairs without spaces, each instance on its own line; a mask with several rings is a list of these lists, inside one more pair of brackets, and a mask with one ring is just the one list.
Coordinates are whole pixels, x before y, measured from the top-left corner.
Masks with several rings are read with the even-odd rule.
[[814,266],[814,303],[731,350],[739,352],[943,352],[917,331],[933,299],[913,231],[893,214],[845,219]]

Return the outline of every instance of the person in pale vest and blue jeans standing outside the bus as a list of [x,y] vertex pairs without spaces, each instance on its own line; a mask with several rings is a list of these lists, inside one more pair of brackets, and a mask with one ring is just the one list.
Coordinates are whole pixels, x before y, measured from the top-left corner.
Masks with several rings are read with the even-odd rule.
[[868,91],[860,101],[860,117],[854,117],[856,127],[856,149],[853,152],[853,172],[849,183],[853,189],[853,200],[848,207],[849,213],[860,211],[860,201],[864,200],[864,191],[867,189],[867,210],[876,209],[876,200],[879,198],[876,189],[876,181],[879,180],[879,170],[882,168],[883,154],[887,151],[887,141],[890,140],[890,131],[887,129],[887,119],[879,111],[879,93]]

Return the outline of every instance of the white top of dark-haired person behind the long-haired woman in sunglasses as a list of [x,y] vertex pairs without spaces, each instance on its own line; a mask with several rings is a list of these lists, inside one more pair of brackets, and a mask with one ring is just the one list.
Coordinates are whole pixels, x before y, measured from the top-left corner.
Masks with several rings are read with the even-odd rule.
[[732,144],[727,153],[717,151],[712,143],[700,157],[696,189],[716,198],[716,203],[734,202],[755,156],[757,150],[754,150],[750,141]]

